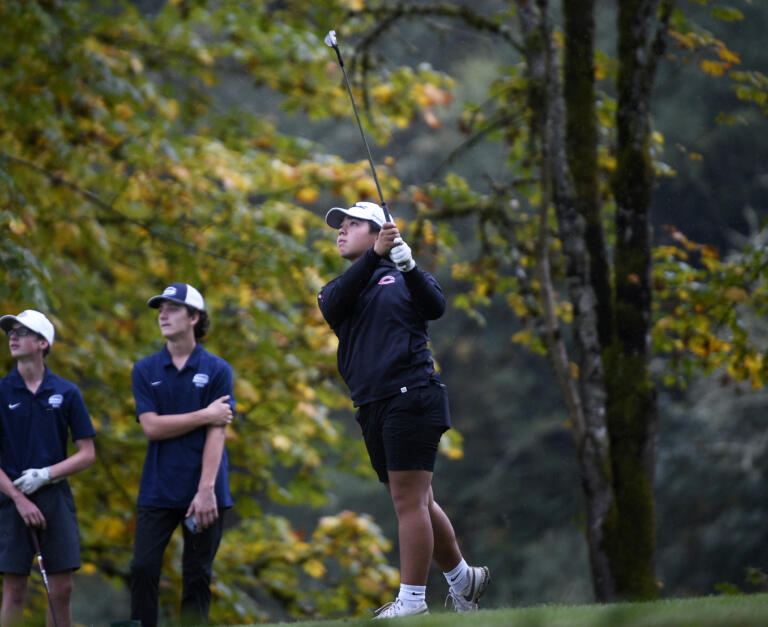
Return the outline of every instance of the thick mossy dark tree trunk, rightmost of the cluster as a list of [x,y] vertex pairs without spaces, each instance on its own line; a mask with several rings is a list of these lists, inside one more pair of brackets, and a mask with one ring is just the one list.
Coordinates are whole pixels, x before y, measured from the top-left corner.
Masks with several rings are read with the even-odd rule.
[[[622,0],[618,13],[615,339],[605,351],[607,419],[618,516],[606,530],[621,598],[653,599],[656,389],[650,373],[653,163],[650,100],[671,3]],[[656,34],[654,29],[658,28]],[[655,36],[654,36],[655,35]]]

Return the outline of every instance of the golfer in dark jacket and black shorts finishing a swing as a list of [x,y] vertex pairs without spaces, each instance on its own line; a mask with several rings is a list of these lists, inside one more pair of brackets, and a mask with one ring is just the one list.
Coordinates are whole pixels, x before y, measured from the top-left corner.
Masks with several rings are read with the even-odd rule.
[[445,310],[442,290],[416,267],[410,247],[378,205],[334,207],[325,221],[338,229],[339,254],[352,265],[323,287],[318,303],[339,338],[339,372],[397,514],[400,592],[376,618],[428,613],[433,557],[450,585],[454,609],[476,610],[490,581],[488,568],[464,561],[451,521],[432,493],[438,444],[450,428],[445,386],[427,345],[427,321]]

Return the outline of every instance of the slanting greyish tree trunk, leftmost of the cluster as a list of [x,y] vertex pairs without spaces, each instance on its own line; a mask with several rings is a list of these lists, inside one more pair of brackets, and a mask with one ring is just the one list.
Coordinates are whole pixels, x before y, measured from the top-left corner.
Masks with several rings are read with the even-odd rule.
[[[574,359],[578,367],[576,393],[572,381],[558,377],[558,382],[574,425],[574,441],[586,501],[587,544],[595,595],[600,600],[608,600],[614,597],[615,583],[606,552],[604,528],[614,511],[614,496],[605,424],[605,384],[597,330],[597,300],[590,281],[584,219],[576,206],[566,160],[560,71],[547,2],[538,0],[534,4],[518,0],[517,5],[529,68],[532,130],[533,135],[542,141],[545,191],[549,189],[549,181],[552,182],[552,202],[566,258],[569,298],[573,304]],[[543,196],[546,199],[548,194]],[[542,277],[542,284],[546,298],[552,291],[551,277]],[[548,324],[551,326],[551,321]],[[559,337],[557,333],[552,335]],[[566,370],[570,374],[570,363],[559,343],[550,342],[548,353],[555,362],[556,372]],[[571,398],[574,395],[576,398]]]

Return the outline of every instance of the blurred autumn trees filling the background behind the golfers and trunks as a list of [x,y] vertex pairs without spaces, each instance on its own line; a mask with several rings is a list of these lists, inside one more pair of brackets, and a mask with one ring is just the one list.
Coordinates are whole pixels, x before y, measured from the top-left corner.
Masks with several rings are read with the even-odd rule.
[[[749,589],[747,569],[768,557],[767,10],[678,3],[652,100],[662,595]],[[559,6],[550,11],[559,43]],[[596,2],[595,20],[608,224],[616,3]],[[453,305],[432,338],[463,457],[454,433],[436,494],[468,558],[493,571],[489,605],[593,598],[573,424],[532,315],[542,189],[516,3],[7,1],[0,303],[52,314],[49,363],[81,386],[99,432],[97,465],[72,481],[91,575],[78,584],[115,587],[101,595],[106,608],[81,605],[76,620],[126,611],[145,446],[129,373],[159,346],[146,299],[173,280],[203,291],[207,345],[237,379],[228,443],[237,506],[217,558],[213,620],[346,615],[387,600],[397,582],[391,504],[366,469],[315,305],[343,269],[322,215],[376,198],[322,44],[331,28],[385,196]],[[473,221],[477,208],[500,209],[514,239]],[[552,218],[548,260],[565,294],[556,230]],[[567,325],[568,303],[557,312]],[[175,551],[164,570],[168,615]],[[435,573],[433,603],[443,585]]]

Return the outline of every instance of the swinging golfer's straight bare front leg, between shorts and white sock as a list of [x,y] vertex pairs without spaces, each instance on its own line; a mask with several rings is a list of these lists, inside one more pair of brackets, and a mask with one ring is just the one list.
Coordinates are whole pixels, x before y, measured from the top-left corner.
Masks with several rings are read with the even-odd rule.
[[426,470],[389,471],[389,491],[400,541],[400,581],[411,586],[427,585],[432,562],[431,483],[432,473]]

